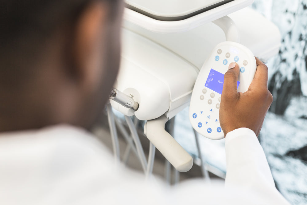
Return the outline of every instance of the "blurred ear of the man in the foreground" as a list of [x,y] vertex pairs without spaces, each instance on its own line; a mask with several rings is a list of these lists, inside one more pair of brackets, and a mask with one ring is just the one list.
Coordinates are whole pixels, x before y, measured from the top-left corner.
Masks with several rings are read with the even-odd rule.
[[72,41],[72,72],[77,83],[85,90],[92,90],[103,75],[105,30],[107,30],[108,5],[91,3],[80,14]]

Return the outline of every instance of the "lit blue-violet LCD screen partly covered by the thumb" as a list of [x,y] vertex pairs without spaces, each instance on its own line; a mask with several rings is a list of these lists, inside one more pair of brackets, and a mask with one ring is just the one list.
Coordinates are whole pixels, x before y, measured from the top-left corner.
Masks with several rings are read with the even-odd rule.
[[[237,88],[239,87],[239,84],[240,82],[238,81]],[[223,85],[224,85],[224,74],[211,69],[205,86],[209,89],[212,89],[216,93],[222,94]]]

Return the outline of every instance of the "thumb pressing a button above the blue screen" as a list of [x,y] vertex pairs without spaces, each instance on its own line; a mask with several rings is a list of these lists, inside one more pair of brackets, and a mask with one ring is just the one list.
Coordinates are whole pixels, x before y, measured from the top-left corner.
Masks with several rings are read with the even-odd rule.
[[239,76],[239,65],[235,62],[229,64],[228,70],[224,75],[222,98],[226,97],[229,99],[237,97],[238,76]]

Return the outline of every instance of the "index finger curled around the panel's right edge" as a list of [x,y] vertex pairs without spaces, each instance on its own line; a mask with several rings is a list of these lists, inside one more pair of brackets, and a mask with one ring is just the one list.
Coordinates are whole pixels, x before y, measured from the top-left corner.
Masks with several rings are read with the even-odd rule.
[[263,87],[267,88],[268,86],[268,67],[262,61],[260,61],[257,57],[255,57],[255,59],[256,59],[257,69],[256,69],[254,80],[251,82],[249,90],[251,88],[255,88],[259,86],[262,88]]

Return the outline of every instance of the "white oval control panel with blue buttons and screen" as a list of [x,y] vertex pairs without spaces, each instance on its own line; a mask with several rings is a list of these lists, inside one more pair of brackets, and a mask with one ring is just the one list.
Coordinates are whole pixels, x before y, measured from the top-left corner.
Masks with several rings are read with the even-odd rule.
[[238,92],[247,91],[256,72],[255,57],[245,46],[225,41],[218,44],[209,55],[200,69],[192,92],[189,108],[192,127],[201,135],[213,140],[224,137],[219,111],[224,74],[232,62],[236,62],[240,68]]

